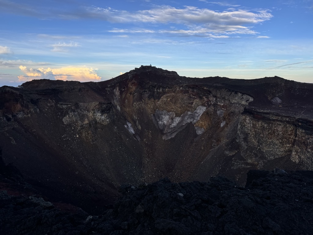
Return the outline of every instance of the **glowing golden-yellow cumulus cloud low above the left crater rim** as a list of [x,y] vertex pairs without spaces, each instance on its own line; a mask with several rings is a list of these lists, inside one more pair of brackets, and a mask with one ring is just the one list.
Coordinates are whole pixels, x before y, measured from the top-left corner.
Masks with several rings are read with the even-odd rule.
[[88,67],[62,67],[62,68],[38,68],[28,69],[26,66],[20,65],[19,69],[26,75],[18,76],[19,81],[31,81],[33,79],[51,79],[64,81],[95,81],[101,77],[97,75],[95,68]]

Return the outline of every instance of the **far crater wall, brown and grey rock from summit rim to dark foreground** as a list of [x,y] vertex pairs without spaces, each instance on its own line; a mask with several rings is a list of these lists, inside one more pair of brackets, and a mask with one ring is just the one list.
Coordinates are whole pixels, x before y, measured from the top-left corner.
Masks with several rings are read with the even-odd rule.
[[121,184],[312,170],[313,84],[186,78],[142,66],[103,82],[0,88],[0,147],[51,200],[89,211]]

